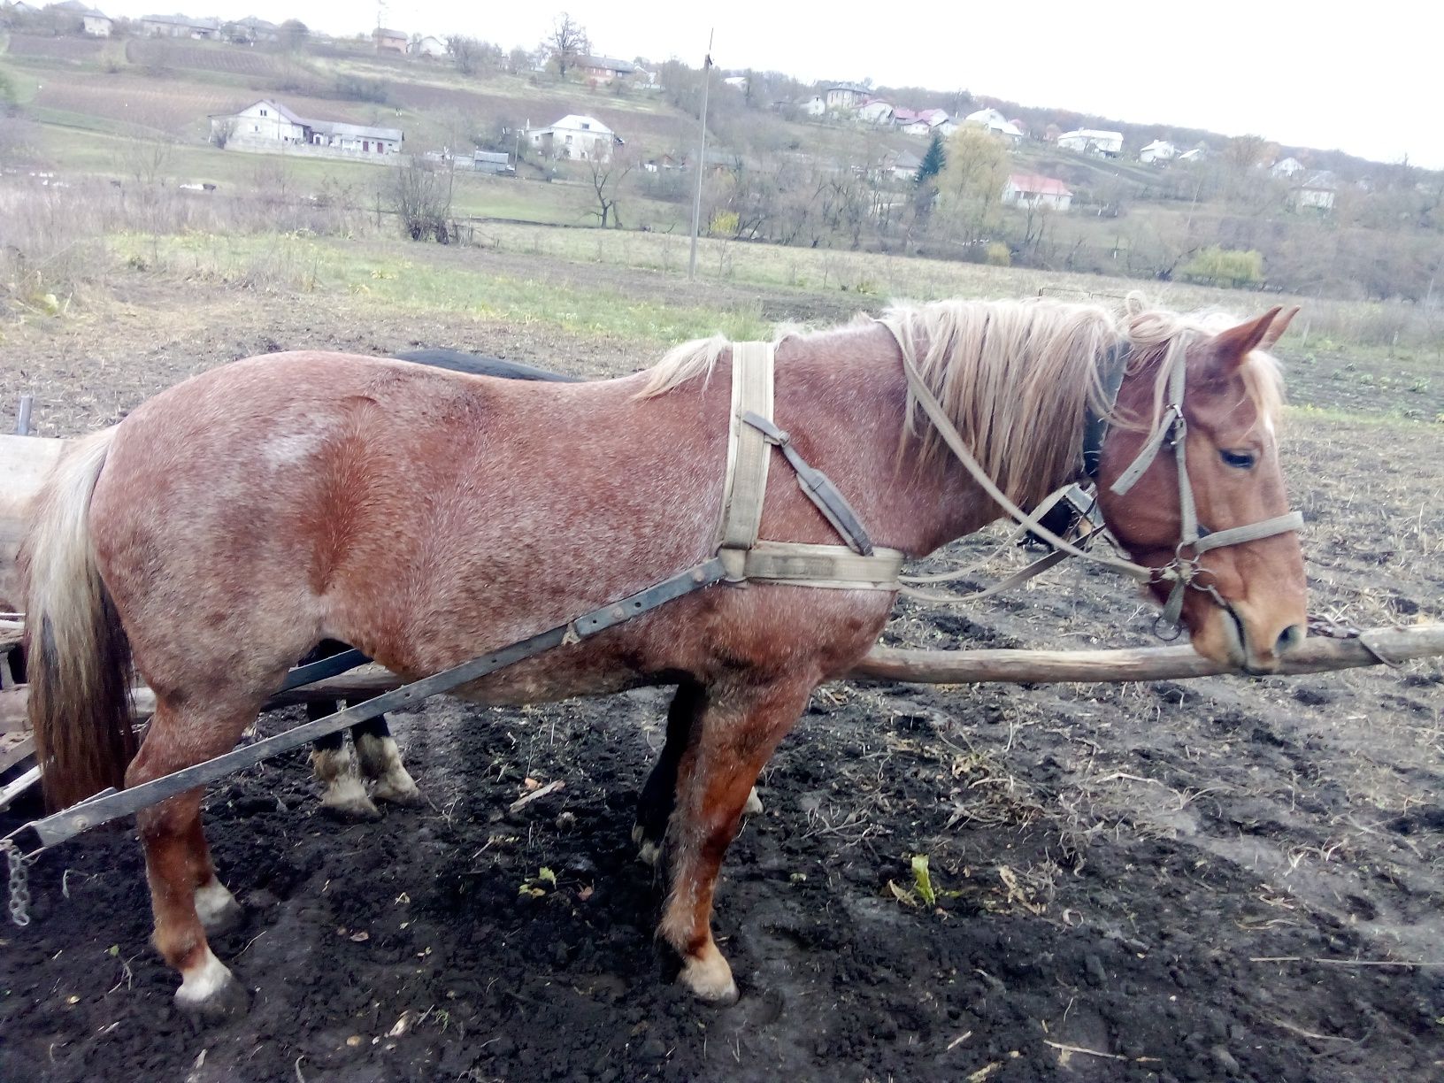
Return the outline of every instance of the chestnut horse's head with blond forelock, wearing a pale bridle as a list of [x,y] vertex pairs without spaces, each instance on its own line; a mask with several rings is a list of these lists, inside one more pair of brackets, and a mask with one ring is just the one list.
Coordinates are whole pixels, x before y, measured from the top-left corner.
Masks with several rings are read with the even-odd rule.
[[1155,569],[1149,589],[1165,606],[1181,601],[1175,617],[1200,654],[1251,673],[1275,671],[1307,619],[1297,521],[1284,518],[1278,370],[1262,352],[1295,313],[1216,332],[1135,313],[1099,468],[1105,520]]

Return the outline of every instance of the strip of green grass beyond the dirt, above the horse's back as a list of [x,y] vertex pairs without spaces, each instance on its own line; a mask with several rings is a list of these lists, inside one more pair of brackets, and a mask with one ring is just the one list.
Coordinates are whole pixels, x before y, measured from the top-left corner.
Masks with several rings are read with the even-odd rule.
[[[466,312],[479,319],[547,323],[578,335],[674,345],[722,332],[768,332],[760,309],[673,305],[596,286],[560,287],[539,266],[534,277],[430,263],[430,248],[400,241],[345,241],[306,235],[111,238],[116,257],[153,273],[202,277],[253,289],[347,293],[407,312]],[[468,253],[469,256],[471,253]],[[478,254],[479,256],[479,254]]]

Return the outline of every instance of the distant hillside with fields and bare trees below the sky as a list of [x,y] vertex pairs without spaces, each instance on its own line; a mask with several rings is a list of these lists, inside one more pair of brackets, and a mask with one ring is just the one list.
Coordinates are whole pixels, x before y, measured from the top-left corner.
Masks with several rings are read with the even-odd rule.
[[[381,56],[370,42],[357,40],[318,39],[284,51],[12,33],[3,42],[0,78],[16,116],[0,121],[7,133],[0,134],[0,153],[56,172],[124,179],[140,175],[131,162],[137,140],[163,143],[165,172],[178,182],[248,185],[263,172],[263,156],[211,146],[208,117],[266,97],[309,118],[400,127],[412,155],[521,152],[517,179],[458,175],[453,212],[586,225],[598,219],[595,178],[579,163],[537,160],[516,134],[579,113],[622,140],[619,160],[630,172],[609,180],[622,222],[686,228],[692,175],[673,166],[695,159],[700,72],[669,62],[661,65],[660,88],[641,88],[593,87],[507,68],[497,64],[464,75],[448,58]],[[1297,182],[1281,183],[1265,168],[1285,149],[1252,137],[1212,137],[1213,153],[1199,163],[1132,160],[1144,137],[1207,134],[1155,126],[1126,129],[1126,153],[1113,159],[1027,139],[995,155],[982,172],[976,163],[954,163],[936,191],[920,192],[911,176],[885,166],[900,153],[921,157],[926,137],[861,126],[836,113],[809,117],[796,107],[799,84],[777,74],[749,72],[742,91],[722,85],[721,74],[713,78],[703,211],[713,234],[1320,296],[1428,305],[1435,297],[1434,280],[1444,264],[1440,175],[1288,149],[1310,169],[1336,170],[1331,205],[1308,208],[1300,205]],[[953,108],[988,101],[966,92],[953,97]],[[915,105],[933,98],[939,95],[926,91],[897,97]],[[1030,130],[1070,118],[1108,123],[999,104],[1017,108]],[[644,162],[660,165],[643,168]],[[287,170],[295,183],[326,185],[361,205],[377,204],[378,189],[388,183],[365,162],[290,155]],[[1071,206],[1067,212],[1002,206],[998,193],[1009,173],[1061,180]],[[1220,279],[1223,264],[1246,273]]]

